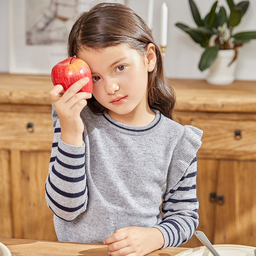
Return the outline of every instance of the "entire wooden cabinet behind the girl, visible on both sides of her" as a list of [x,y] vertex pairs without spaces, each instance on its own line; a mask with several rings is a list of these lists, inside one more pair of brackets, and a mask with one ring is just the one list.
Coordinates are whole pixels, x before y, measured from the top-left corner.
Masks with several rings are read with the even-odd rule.
[[[204,131],[197,156],[197,229],[213,244],[256,246],[256,81],[170,83],[177,121]],[[0,237],[57,240],[44,199],[51,87],[50,76],[0,74]],[[193,236],[183,247],[201,245]]]

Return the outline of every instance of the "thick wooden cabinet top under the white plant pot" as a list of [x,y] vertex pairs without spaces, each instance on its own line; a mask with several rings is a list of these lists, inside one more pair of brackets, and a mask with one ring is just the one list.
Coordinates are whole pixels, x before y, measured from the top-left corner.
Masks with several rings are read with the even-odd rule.
[[202,79],[169,79],[177,94],[177,110],[254,112],[256,81],[236,80],[231,85],[207,84]]

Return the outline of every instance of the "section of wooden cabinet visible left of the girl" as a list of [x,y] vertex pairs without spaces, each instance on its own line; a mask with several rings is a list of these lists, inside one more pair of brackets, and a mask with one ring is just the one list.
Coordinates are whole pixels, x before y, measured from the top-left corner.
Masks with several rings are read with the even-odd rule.
[[53,137],[46,91],[51,80],[0,77],[0,237],[57,240],[44,198]]

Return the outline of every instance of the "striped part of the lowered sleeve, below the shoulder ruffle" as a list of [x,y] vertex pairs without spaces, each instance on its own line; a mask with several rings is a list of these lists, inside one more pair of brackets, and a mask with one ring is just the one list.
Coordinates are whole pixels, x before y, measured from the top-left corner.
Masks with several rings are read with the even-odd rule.
[[164,246],[186,243],[198,226],[196,198],[196,157],[177,185],[164,195],[163,220],[158,228],[164,236]]

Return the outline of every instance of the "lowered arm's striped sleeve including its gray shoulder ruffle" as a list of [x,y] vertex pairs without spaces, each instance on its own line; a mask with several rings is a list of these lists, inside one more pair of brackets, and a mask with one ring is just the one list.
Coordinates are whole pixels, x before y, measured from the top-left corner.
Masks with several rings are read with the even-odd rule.
[[203,131],[185,125],[169,167],[167,187],[162,204],[163,219],[156,226],[164,236],[164,246],[186,243],[198,226],[196,198],[196,153],[202,142]]

